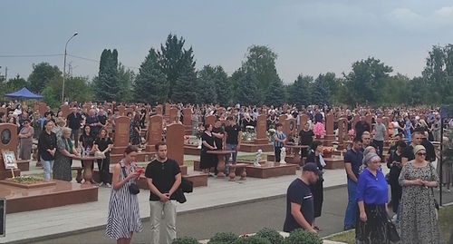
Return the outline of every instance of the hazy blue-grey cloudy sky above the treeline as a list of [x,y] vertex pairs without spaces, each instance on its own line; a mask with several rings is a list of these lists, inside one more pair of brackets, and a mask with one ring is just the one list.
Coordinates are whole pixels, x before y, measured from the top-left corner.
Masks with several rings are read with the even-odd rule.
[[[194,49],[197,68],[241,66],[247,47],[278,54],[284,83],[298,74],[349,73],[352,63],[375,57],[394,73],[419,76],[434,44],[453,43],[453,2],[446,0],[3,0],[0,72],[28,77],[33,63],[63,71],[64,44],[73,75],[98,73],[103,49],[138,72],[151,47],[177,34]],[[20,55],[49,55],[11,57]],[[66,66],[68,70],[68,66]]]

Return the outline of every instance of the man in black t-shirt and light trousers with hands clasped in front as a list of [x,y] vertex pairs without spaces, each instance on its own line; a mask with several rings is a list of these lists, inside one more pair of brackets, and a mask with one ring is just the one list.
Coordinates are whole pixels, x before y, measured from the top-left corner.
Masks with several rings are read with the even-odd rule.
[[176,233],[176,194],[181,184],[181,170],[178,162],[167,158],[167,144],[157,142],[156,159],[149,162],[145,177],[148,182],[151,220],[151,243],[160,243],[159,230],[162,212],[167,230],[167,242],[177,238]]

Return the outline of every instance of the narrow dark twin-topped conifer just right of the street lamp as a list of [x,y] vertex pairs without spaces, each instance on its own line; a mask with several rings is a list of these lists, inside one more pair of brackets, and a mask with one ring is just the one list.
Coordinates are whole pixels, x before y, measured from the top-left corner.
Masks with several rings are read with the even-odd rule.
[[104,49],[101,54],[99,74],[93,80],[96,87],[97,101],[120,101],[121,83],[118,73],[118,53],[116,50]]

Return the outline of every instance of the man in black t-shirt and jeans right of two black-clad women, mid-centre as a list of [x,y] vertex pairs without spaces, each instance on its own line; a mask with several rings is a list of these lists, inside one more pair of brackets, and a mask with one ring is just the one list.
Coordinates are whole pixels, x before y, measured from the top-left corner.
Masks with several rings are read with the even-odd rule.
[[[225,127],[225,136],[226,136],[226,147],[227,151],[233,152],[233,164],[236,164],[237,151],[241,148],[242,141],[242,132],[241,127],[236,124],[236,121],[233,117],[226,118],[226,127]],[[229,162],[230,154],[225,155],[225,164]],[[228,167],[225,167],[225,173],[228,175]]]

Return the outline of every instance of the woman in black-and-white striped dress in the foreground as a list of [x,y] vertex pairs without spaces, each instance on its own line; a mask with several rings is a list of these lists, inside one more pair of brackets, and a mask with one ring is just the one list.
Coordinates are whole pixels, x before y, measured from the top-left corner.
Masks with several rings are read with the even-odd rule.
[[141,232],[139,200],[137,195],[130,194],[130,183],[140,177],[135,171],[133,162],[137,157],[137,148],[129,146],[124,151],[124,159],[115,165],[111,179],[111,200],[106,234],[117,243],[129,244],[133,232]]

